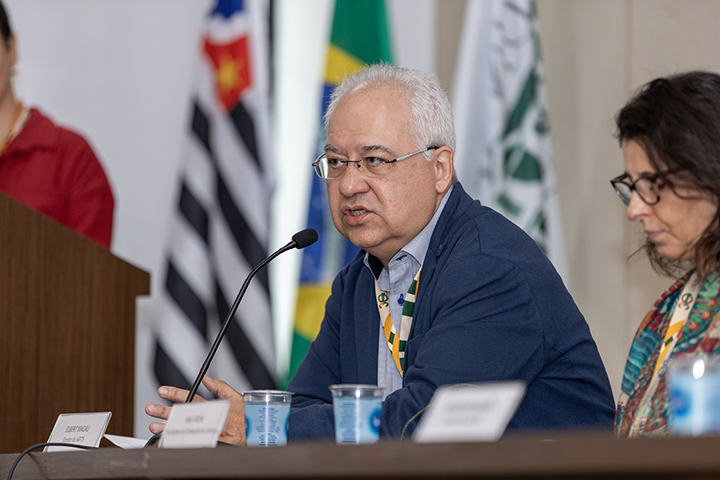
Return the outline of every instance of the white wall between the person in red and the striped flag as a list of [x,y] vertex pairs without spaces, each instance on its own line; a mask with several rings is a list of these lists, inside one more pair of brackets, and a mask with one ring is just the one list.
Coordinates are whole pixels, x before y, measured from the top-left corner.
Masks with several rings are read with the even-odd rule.
[[155,271],[186,125],[202,0],[6,0],[18,96],[82,132],[116,197],[112,250]]

